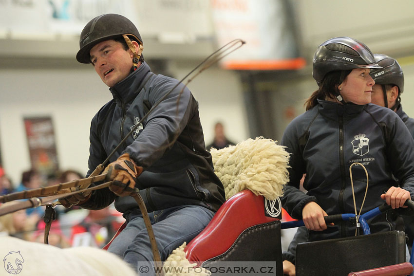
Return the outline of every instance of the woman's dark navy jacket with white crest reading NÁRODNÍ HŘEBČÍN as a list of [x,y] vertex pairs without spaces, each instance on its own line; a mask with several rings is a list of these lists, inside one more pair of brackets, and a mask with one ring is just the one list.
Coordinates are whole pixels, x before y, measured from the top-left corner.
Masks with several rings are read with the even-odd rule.
[[[328,215],[354,213],[349,167],[363,164],[369,175],[369,188],[362,213],[381,205],[380,195],[400,185],[414,198],[414,140],[398,115],[373,104],[340,105],[318,100],[319,104],[295,118],[286,128],[282,146],[291,153],[289,183],[282,197],[283,207],[295,219],[302,208],[317,202]],[[303,173],[303,187],[299,190]],[[363,200],[366,176],[361,166],[353,166],[357,210]],[[395,229],[395,216],[368,221],[371,231]],[[310,233],[309,240],[353,236],[350,223],[329,226]]]

